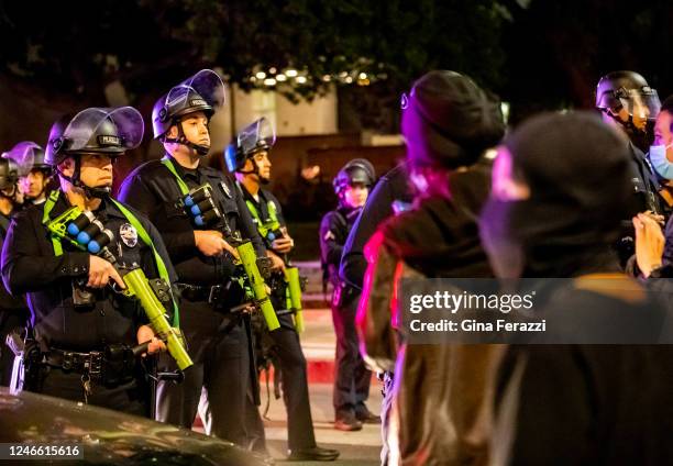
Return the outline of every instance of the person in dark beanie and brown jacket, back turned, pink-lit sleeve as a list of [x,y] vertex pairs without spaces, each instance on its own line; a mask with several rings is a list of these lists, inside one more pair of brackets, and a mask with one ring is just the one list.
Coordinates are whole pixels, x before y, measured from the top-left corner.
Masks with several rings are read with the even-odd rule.
[[466,76],[431,71],[402,99],[402,134],[417,196],[365,247],[369,263],[357,323],[366,360],[395,369],[388,464],[475,464],[486,457],[481,411],[492,346],[407,345],[396,289],[407,277],[493,277],[476,215],[487,198],[483,153],[505,131],[499,102]]

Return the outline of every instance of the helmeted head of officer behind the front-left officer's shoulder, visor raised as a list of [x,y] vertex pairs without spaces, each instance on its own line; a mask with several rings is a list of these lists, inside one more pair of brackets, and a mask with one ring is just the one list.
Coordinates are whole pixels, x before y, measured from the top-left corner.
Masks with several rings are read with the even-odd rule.
[[[30,168],[27,174],[19,177],[19,189],[25,204],[38,204],[46,201],[52,167],[44,160],[44,149],[33,142],[24,141],[16,144],[8,153],[8,157]],[[26,165],[26,162],[32,162],[32,164]]]

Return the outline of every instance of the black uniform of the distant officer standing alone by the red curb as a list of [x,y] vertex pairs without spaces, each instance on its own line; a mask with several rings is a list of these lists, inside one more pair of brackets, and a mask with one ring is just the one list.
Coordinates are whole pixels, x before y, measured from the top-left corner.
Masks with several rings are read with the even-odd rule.
[[320,249],[323,266],[327,267],[332,295],[332,320],[336,333],[336,375],[334,379],[333,404],[336,419],[342,414],[365,411],[364,402],[369,396],[372,373],[365,367],[360,355],[355,313],[357,292],[344,287],[339,279],[339,264],[343,245],[362,208],[339,207],[328,212],[320,223]]

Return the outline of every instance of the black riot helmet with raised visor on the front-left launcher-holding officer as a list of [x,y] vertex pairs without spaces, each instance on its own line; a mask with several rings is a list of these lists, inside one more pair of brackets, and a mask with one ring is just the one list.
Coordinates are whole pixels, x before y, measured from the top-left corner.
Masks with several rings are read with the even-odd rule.
[[[93,107],[82,110],[74,118],[64,116],[54,123],[45,162],[55,167],[62,178],[84,189],[88,196],[108,195],[110,188],[91,188],[81,182],[79,155],[103,154],[115,158],[141,144],[144,127],[142,115],[132,107]],[[58,165],[67,157],[75,160],[73,176],[66,176],[58,169]]]

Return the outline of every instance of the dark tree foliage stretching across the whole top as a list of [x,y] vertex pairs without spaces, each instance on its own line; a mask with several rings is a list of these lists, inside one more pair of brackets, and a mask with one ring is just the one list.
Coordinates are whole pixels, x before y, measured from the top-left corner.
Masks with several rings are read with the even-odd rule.
[[[251,81],[258,71],[291,68],[306,82],[277,84],[290,99],[336,84],[363,126],[390,127],[386,109],[437,68],[468,74],[519,115],[592,107],[596,81],[615,69],[642,73],[663,98],[671,24],[668,0],[3,1],[0,67],[90,102],[119,80],[132,103],[199,67],[244,89],[264,87]],[[361,73],[368,86],[356,86]]]

